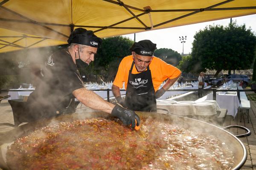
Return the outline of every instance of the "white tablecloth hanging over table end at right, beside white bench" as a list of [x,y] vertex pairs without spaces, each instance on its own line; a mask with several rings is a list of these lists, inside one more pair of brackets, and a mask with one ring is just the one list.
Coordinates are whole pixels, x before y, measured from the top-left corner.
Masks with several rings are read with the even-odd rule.
[[[213,95],[207,94],[206,100],[212,100]],[[216,102],[221,109],[227,109],[227,115],[231,115],[234,118],[237,114],[240,102],[236,94],[216,94]]]

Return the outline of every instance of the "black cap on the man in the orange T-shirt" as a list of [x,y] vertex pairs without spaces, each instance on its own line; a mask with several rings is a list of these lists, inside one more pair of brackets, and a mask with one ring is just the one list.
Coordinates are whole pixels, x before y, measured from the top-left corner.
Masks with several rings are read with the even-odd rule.
[[142,56],[153,56],[155,49],[157,49],[157,44],[154,44],[150,40],[141,40],[134,42],[130,51],[134,51],[136,54]]

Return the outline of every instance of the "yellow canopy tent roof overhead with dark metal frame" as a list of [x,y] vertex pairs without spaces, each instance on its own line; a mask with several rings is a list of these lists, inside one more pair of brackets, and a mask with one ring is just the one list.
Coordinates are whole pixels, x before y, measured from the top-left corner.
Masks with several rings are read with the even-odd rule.
[[250,14],[256,0],[0,0],[0,52],[64,44],[77,27],[104,38]]

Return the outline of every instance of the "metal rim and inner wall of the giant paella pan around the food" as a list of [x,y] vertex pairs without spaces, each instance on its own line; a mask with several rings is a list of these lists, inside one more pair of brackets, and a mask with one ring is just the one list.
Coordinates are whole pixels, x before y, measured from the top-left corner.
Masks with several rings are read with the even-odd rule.
[[[229,137],[231,139],[230,140],[230,141],[232,141],[232,143],[230,143],[231,145],[234,145],[233,144],[234,142],[236,143],[236,146],[234,146],[234,147],[236,148],[236,150],[239,150],[238,152],[240,152],[239,159],[237,161],[235,161],[235,165],[232,168],[232,170],[239,170],[239,168],[241,168],[243,166],[243,164],[245,163],[245,161],[247,159],[247,150],[246,150],[244,144],[232,133],[230,133],[227,130],[224,130],[220,127],[217,127],[215,125],[212,125],[207,122],[200,121],[200,120],[191,119],[191,118],[187,118],[187,117],[183,117],[183,116],[170,115],[170,114],[165,114],[165,113],[137,112],[137,114],[139,116],[152,116],[152,117],[155,117],[157,119],[162,119],[162,120],[167,119],[172,122],[175,122],[175,121],[177,122],[177,120],[178,120],[178,121],[182,122],[183,125],[186,125],[190,122],[194,122],[197,125],[204,125],[208,129],[213,128],[213,129],[216,129],[217,131],[219,130],[218,133],[222,133],[224,135],[226,134],[227,135],[226,137]],[[101,112],[101,111],[95,111],[95,112],[66,114],[66,115],[58,116],[58,117],[51,118],[51,119],[45,119],[40,122],[32,122],[32,123],[20,125],[19,127],[6,133],[6,136],[4,136],[4,138],[3,138],[3,139],[5,139],[6,142],[1,141],[0,146],[2,146],[4,143],[14,142],[15,139],[19,138],[20,136],[24,136],[24,135],[26,135],[26,133],[29,133],[32,130],[35,130],[36,127],[38,127],[38,128],[44,127],[44,126],[46,126],[46,123],[52,122],[53,120],[55,122],[63,122],[63,121],[67,121],[67,120],[70,121],[70,119],[91,119],[91,118],[98,118],[98,117],[112,118],[108,113]],[[180,123],[178,123],[178,124],[180,125]],[[185,127],[183,127],[183,128],[185,128]],[[211,135],[211,134],[208,134],[208,135]],[[222,140],[219,136],[217,136],[217,135],[215,135],[215,136],[218,139]],[[236,140],[233,141],[233,139],[236,139]],[[226,142],[226,141],[224,141],[224,142]],[[3,152],[3,148],[0,147],[0,154],[1,154],[0,155],[0,168],[2,168],[4,170],[9,169],[6,164],[6,161],[4,161],[5,160],[4,158],[6,156],[6,151],[7,151],[7,149],[5,150],[5,152]]]

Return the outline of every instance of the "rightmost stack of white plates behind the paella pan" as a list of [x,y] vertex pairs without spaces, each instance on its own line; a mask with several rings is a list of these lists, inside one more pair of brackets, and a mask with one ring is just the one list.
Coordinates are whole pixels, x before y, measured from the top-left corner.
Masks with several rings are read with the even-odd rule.
[[196,103],[193,106],[195,115],[210,116],[216,114],[216,107],[213,103]]

